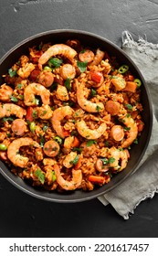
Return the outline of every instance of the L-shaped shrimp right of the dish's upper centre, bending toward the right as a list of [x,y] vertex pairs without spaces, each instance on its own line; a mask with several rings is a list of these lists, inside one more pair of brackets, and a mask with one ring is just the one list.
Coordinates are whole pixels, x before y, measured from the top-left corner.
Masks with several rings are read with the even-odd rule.
[[79,106],[87,112],[103,112],[104,105],[102,102],[93,103],[84,96],[84,83],[77,84],[77,100]]

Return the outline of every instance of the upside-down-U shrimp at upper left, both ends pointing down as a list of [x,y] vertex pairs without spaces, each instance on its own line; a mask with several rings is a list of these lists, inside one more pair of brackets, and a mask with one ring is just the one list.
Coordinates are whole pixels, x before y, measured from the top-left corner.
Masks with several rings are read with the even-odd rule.
[[26,86],[24,90],[24,102],[26,106],[34,106],[36,105],[36,98],[35,95],[41,97],[43,104],[49,105],[49,97],[50,91],[48,91],[43,85],[40,83],[30,83]]

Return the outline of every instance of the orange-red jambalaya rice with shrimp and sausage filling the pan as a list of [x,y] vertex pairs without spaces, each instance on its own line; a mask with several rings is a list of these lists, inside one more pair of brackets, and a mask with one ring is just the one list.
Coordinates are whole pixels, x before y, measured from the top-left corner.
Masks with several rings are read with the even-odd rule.
[[0,86],[0,159],[32,186],[93,190],[139,142],[141,80],[79,40],[29,48]]

